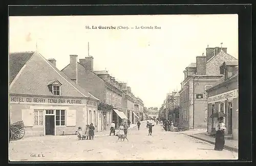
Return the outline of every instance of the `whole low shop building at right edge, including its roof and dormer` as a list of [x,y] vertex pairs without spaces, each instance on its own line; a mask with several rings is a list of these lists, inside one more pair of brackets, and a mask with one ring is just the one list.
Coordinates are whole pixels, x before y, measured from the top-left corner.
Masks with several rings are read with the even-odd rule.
[[[207,132],[214,129],[217,118],[210,115],[215,112],[224,112],[227,136],[238,140],[238,60],[224,61],[220,66],[220,73],[224,76],[216,85],[208,88],[208,115]],[[209,118],[210,117],[210,118]]]

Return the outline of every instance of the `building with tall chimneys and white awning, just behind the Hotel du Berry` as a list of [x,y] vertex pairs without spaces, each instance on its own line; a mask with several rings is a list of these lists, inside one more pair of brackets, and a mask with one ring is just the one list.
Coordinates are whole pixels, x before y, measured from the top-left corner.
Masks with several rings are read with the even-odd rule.
[[110,128],[112,121],[115,121],[116,127],[121,122],[127,120],[122,111],[123,91],[116,79],[108,74],[107,71],[93,70],[93,57],[85,57],[77,61],[77,55],[70,55],[70,64],[61,70],[71,80],[86,89],[101,102],[112,105],[113,110],[106,113],[99,112],[99,121],[101,122],[99,130]]

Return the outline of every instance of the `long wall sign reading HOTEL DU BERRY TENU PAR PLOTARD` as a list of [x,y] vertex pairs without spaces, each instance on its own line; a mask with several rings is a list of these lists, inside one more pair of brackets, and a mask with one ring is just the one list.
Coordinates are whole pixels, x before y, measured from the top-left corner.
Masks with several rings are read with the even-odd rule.
[[73,99],[52,99],[52,98],[29,98],[10,97],[11,103],[60,103],[60,104],[83,104],[82,100]]

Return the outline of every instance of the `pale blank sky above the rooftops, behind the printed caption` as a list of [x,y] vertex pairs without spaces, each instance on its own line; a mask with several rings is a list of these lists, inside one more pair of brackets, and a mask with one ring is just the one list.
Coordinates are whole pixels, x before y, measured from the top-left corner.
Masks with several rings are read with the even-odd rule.
[[238,59],[237,14],[9,17],[9,52],[38,51],[55,58],[59,70],[70,55],[82,59],[89,52],[94,70],[126,82],[145,107],[161,107],[166,93],[180,90],[186,66],[206,55],[207,45],[221,43]]

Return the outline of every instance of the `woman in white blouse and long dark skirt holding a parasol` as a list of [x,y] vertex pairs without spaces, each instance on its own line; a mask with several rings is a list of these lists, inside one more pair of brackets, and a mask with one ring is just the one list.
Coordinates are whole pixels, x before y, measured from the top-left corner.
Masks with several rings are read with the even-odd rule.
[[225,145],[224,131],[226,130],[223,123],[223,117],[218,118],[218,123],[215,124],[215,148],[214,150],[222,151]]

